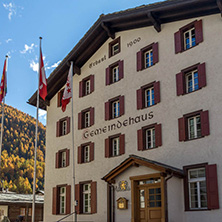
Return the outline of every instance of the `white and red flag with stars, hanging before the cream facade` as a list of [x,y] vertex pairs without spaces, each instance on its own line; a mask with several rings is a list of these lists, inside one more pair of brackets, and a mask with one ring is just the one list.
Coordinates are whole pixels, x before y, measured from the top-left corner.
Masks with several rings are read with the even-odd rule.
[[63,92],[62,96],[62,111],[65,112],[66,105],[70,102],[70,99],[72,98],[72,76],[73,76],[73,66],[71,63],[69,74],[66,81],[66,86]]

